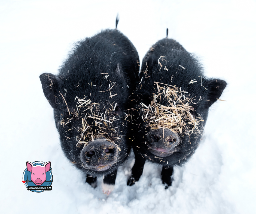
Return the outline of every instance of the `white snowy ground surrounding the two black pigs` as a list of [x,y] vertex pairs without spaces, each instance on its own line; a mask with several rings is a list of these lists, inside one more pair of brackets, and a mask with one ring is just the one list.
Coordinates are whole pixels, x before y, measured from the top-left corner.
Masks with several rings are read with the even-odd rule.
[[[133,157],[114,191],[93,189],[60,148],[53,110],[39,75],[57,73],[72,44],[115,27],[140,60],[166,36],[197,54],[208,77],[227,81],[209,113],[204,140],[165,190],[161,168],[146,163],[126,185]],[[0,1],[0,213],[256,213],[256,2]],[[52,161],[53,190],[22,183],[25,161]]]

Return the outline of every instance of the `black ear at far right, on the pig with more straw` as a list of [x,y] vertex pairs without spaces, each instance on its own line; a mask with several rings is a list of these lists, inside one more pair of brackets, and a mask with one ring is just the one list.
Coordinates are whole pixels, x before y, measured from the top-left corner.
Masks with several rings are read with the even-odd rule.
[[226,86],[227,86],[227,83],[224,80],[219,80],[219,79],[210,80],[206,86],[207,88],[206,93],[208,93],[206,100],[209,100],[209,101],[205,101],[204,107],[209,108],[213,103],[215,103],[217,99],[220,98]]

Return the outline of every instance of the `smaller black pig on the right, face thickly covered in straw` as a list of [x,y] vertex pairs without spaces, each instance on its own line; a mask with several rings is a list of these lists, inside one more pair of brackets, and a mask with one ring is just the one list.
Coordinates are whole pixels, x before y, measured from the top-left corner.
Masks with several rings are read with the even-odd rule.
[[185,163],[198,147],[209,107],[226,82],[206,78],[196,56],[167,37],[150,48],[141,70],[132,100],[135,164],[127,185],[139,180],[149,159],[163,166],[168,188],[173,166]]

